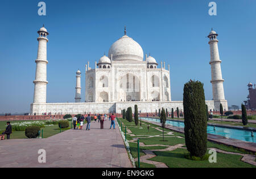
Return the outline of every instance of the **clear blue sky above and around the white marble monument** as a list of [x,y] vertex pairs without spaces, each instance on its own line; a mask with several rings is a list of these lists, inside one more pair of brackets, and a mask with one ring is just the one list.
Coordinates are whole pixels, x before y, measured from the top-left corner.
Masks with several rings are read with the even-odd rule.
[[75,101],[76,71],[90,67],[114,41],[127,35],[144,54],[171,66],[172,100],[183,100],[189,79],[204,83],[205,98],[212,100],[208,36],[218,36],[225,79],[225,98],[241,105],[246,85],[256,83],[256,1],[214,1],[217,16],[208,14],[207,0],[104,0],[46,2],[46,16],[38,15],[40,1],[0,1],[0,113],[29,112],[33,100],[38,41],[43,24],[49,32],[47,102]]

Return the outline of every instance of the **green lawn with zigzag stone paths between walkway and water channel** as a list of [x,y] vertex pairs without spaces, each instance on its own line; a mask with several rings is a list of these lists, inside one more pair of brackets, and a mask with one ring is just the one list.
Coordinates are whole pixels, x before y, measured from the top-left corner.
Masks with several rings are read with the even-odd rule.
[[[134,122],[128,122],[127,120],[123,120],[122,118],[118,118],[119,123],[122,121],[123,131],[124,126],[127,127],[127,129],[130,129],[132,134],[134,134],[134,137],[131,137],[127,134],[127,140],[131,140],[133,138],[139,138],[139,142],[144,143],[145,145],[152,145],[152,144],[162,144],[162,145],[168,145],[168,146],[175,146],[176,144],[184,144],[183,147],[185,147],[185,139],[184,134],[176,133],[175,131],[172,131],[173,135],[167,135],[168,131],[171,131],[169,129],[164,130],[164,134],[168,137],[164,138],[164,140],[167,141],[161,141],[163,140],[162,137],[152,137],[152,138],[145,138],[143,135],[162,135],[162,131],[154,129],[154,127],[159,127],[157,125],[153,125],[148,122],[142,122],[143,129],[139,129],[139,126],[135,126]],[[150,125],[150,129],[148,131],[147,126]],[[170,137],[172,136],[172,137]],[[179,138],[183,137],[183,138]],[[138,151],[137,151],[137,143],[129,142],[130,145],[130,151],[131,155],[133,155],[134,158],[138,157]],[[212,142],[208,142],[208,148],[214,147],[218,148],[220,150],[228,151],[228,152],[236,152],[236,153],[245,153],[243,150],[238,150],[237,148],[225,146],[222,144],[216,144]],[[167,147],[164,146],[140,146],[140,156],[144,156],[143,150],[159,150],[159,149],[165,149]],[[150,159],[154,161],[159,161],[164,164],[166,164],[168,167],[212,167],[212,168],[224,168],[224,167],[254,167],[253,165],[243,163],[241,161],[240,155],[232,155],[232,154],[221,154],[217,153],[217,163],[209,163],[209,161],[193,161],[188,160],[185,158],[185,154],[188,153],[187,149],[185,148],[177,148],[174,151],[154,151],[154,153],[157,155],[156,157]],[[138,163],[136,163],[138,166]],[[142,163],[141,167],[143,168],[152,168],[153,166],[151,164]]]

